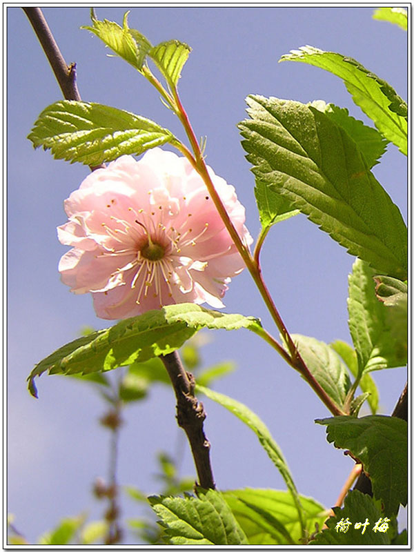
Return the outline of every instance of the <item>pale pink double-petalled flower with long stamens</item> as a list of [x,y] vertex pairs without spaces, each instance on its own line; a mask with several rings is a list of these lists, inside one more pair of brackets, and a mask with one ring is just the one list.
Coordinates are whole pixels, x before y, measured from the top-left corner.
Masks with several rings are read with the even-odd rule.
[[[235,188],[208,168],[237,232],[244,207]],[[159,148],[92,172],[65,201],[57,229],[72,246],[59,262],[64,284],[92,293],[97,315],[128,318],[175,303],[224,305],[230,277],[244,268],[204,181],[185,157]]]

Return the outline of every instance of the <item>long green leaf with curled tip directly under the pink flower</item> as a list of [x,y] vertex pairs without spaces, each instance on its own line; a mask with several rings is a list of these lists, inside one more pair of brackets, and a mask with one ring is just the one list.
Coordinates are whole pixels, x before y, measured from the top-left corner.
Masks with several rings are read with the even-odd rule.
[[168,305],[121,320],[112,328],[90,333],[57,349],[34,366],[28,377],[30,393],[37,396],[33,380],[43,372],[88,374],[143,362],[172,353],[201,328],[247,328],[259,335],[263,331],[253,317],[209,311],[193,303]]

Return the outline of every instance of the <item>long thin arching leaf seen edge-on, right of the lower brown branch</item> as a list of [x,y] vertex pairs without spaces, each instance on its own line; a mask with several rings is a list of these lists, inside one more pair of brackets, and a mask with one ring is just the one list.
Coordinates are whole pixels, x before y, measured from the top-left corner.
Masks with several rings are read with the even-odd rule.
[[268,457],[273,462],[273,464],[275,464],[280,472],[280,475],[282,475],[282,477],[284,478],[284,482],[286,483],[286,486],[288,487],[288,490],[293,497],[293,502],[295,502],[295,507],[297,509],[301,526],[303,526],[302,504],[299,500],[299,494],[297,493],[295,482],[293,481],[292,474],[290,473],[288,464],[284,459],[282,451],[279,449],[279,445],[277,444],[277,442],[275,442],[272,435],[270,435],[270,431],[268,430],[266,424],[264,424],[264,422],[260,420],[259,416],[251,411],[250,408],[248,408],[241,402],[236,401],[235,399],[232,399],[230,397],[227,397],[226,395],[223,395],[222,393],[217,393],[217,391],[212,391],[207,387],[202,387],[201,385],[197,384],[195,386],[195,390],[197,391],[197,393],[203,393],[209,399],[218,402],[219,404],[221,404],[221,406],[227,408],[228,411],[237,416],[239,420],[242,420],[242,422],[244,422],[246,426],[250,427],[250,429],[255,432],[259,439],[259,443],[263,446]]

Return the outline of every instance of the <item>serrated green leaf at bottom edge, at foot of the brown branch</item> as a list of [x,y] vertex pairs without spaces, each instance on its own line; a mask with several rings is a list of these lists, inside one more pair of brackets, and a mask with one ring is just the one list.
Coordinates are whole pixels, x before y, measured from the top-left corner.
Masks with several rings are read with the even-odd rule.
[[161,518],[169,544],[248,544],[246,535],[218,491],[198,497],[149,497],[152,509]]

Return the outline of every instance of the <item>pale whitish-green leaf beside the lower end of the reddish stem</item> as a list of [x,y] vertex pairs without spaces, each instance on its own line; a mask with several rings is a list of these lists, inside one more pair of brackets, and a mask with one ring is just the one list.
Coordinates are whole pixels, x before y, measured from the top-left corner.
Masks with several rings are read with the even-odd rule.
[[322,341],[306,335],[292,334],[301,357],[315,380],[341,407],[346,399],[351,382],[348,371],[333,349]]

